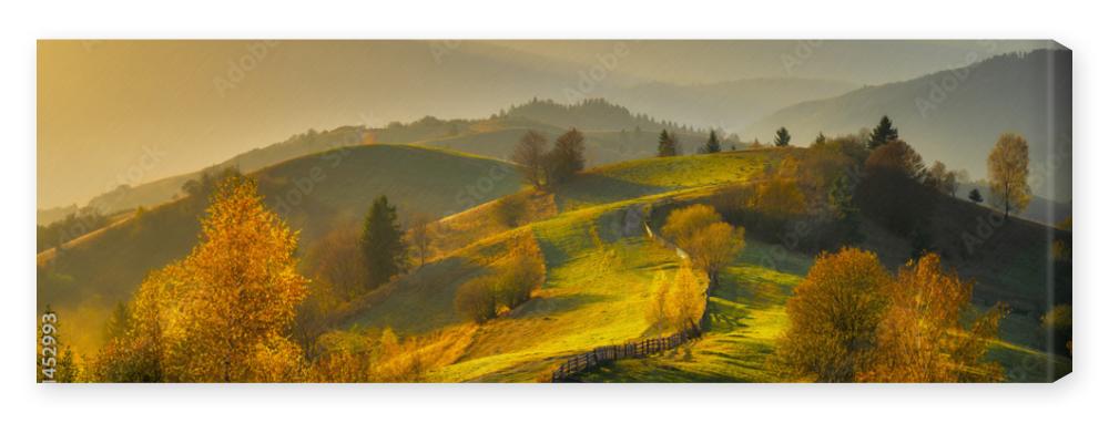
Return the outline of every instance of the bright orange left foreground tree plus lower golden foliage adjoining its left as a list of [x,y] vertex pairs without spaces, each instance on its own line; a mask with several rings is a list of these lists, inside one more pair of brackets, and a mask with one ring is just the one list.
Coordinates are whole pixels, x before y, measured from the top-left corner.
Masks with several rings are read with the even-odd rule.
[[298,380],[303,353],[288,336],[308,280],[296,272],[297,235],[248,178],[223,180],[211,203],[200,244],[143,281],[133,327],[102,361],[157,381]]

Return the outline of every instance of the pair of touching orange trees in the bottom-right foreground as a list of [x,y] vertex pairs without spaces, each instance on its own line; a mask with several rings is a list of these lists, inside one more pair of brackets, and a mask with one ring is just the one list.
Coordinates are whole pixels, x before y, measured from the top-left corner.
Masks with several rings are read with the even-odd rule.
[[803,381],[1000,381],[985,354],[1004,307],[978,312],[970,296],[971,285],[934,254],[896,277],[869,251],[822,254],[786,305],[775,360]]

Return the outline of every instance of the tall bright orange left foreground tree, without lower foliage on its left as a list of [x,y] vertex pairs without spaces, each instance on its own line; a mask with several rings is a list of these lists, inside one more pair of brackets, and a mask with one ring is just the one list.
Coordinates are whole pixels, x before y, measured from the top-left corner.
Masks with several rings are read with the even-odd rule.
[[302,360],[288,340],[308,280],[296,272],[297,234],[266,209],[255,183],[226,179],[184,260],[182,336],[174,364],[185,381],[289,380]]

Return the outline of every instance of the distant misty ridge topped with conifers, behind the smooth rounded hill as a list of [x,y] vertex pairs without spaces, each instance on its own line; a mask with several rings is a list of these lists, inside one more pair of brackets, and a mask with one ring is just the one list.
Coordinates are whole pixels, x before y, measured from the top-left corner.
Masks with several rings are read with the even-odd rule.
[[[182,195],[182,185],[200,177],[202,173],[217,173],[228,167],[251,173],[295,157],[359,144],[421,144],[507,159],[525,132],[539,132],[553,142],[558,135],[573,126],[587,132],[587,158],[591,165],[653,155],[658,133],[662,128],[678,133],[690,145],[688,151],[693,151],[708,136],[688,125],[632,114],[627,107],[604,100],[563,105],[536,99],[487,118],[442,120],[425,116],[410,123],[394,122],[384,127],[309,130],[284,142],[235,155],[202,171],[138,186],[120,186],[94,197],[90,206],[104,214],[151,207]],[[40,224],[43,221],[40,220]]]

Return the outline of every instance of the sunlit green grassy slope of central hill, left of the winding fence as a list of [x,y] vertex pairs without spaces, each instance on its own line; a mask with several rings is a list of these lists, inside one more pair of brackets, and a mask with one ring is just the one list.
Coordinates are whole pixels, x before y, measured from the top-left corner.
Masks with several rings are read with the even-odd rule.
[[[465,323],[452,306],[466,280],[485,275],[520,238],[535,238],[547,266],[547,283],[508,317],[484,324],[456,364],[431,375],[442,381],[536,381],[558,357],[648,332],[647,302],[679,264],[676,255],[644,238],[629,214],[676,194],[711,192],[761,171],[772,153],[732,153],[650,158],[591,169],[553,194],[553,213],[538,221],[488,236],[409,277],[373,292],[349,313],[347,326],[388,326],[419,334]],[[664,175],[676,171],[672,175]],[[653,175],[653,176],[652,176]],[[695,175],[695,177],[694,177]],[[632,178],[639,178],[632,183]],[[536,202],[550,202],[542,195]],[[486,213],[451,216],[475,228]],[[668,276],[669,275],[669,276]]]

